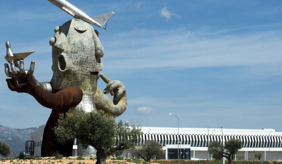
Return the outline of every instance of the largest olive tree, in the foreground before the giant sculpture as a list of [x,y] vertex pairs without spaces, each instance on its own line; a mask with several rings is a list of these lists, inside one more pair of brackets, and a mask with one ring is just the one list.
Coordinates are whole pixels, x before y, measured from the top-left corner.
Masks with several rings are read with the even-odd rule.
[[61,114],[54,134],[62,144],[77,138],[83,148],[93,146],[97,150],[96,164],[104,164],[113,152],[134,148],[142,132],[140,126],[129,127],[122,120],[116,123],[103,111],[91,111]]

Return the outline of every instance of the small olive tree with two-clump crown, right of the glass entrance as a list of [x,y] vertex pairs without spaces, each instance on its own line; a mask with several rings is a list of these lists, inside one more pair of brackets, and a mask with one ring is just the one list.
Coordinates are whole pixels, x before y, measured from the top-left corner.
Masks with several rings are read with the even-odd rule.
[[213,141],[208,145],[208,152],[212,154],[214,159],[220,160],[223,157],[228,159],[228,163],[232,163],[235,154],[242,148],[240,139],[230,139],[226,141],[224,146],[218,141]]

